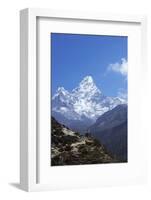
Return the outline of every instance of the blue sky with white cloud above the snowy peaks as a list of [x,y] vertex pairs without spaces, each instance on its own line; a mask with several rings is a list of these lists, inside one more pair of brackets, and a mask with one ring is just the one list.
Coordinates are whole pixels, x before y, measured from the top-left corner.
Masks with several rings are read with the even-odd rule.
[[51,33],[52,94],[71,91],[87,75],[108,96],[127,90],[126,36]]

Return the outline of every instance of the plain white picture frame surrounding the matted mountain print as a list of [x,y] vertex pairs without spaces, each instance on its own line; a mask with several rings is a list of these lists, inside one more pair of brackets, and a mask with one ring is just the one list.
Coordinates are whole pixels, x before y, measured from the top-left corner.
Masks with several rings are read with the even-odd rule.
[[[41,183],[37,178],[41,171],[39,170],[39,145],[38,145],[38,70],[37,70],[37,19],[38,18],[61,19],[61,20],[78,20],[93,22],[120,23],[133,26],[139,25],[140,29],[140,46],[141,46],[141,63],[140,72],[144,78],[146,70],[146,17],[145,16],[124,16],[100,13],[87,12],[72,12],[72,11],[54,11],[49,9],[24,9],[20,12],[20,185],[26,191],[39,191],[51,189],[64,189],[78,187],[78,184],[70,183]],[[98,23],[99,26],[99,23]],[[141,134],[141,139],[145,138],[145,133]],[[142,145],[145,139],[141,140]],[[112,166],[111,166],[112,167]],[[98,168],[98,166],[97,166]],[[114,166],[113,166],[114,168]],[[67,168],[66,168],[67,169]],[[80,169],[78,169],[80,170]],[[95,170],[95,168],[94,168]],[[118,169],[116,169],[117,171]],[[146,182],[146,162],[140,167],[139,175],[132,175],[132,172],[127,179],[104,180],[104,182],[96,181],[97,184],[87,183],[87,180],[79,183],[79,187],[92,187],[101,185],[119,185],[119,184],[136,184]],[[112,176],[112,175],[111,175]],[[51,178],[51,177],[50,177]],[[98,176],[99,179],[99,176]],[[62,184],[62,185],[61,185]]]

